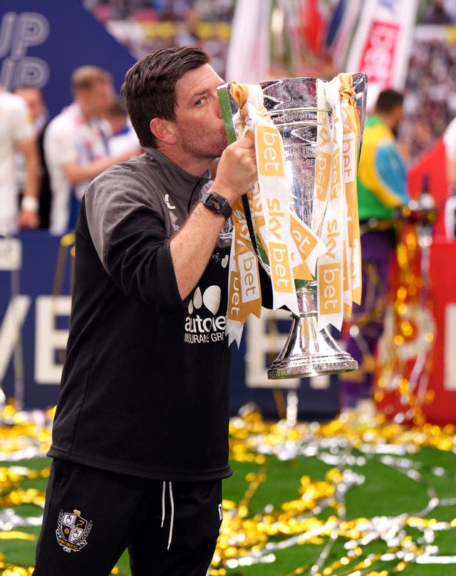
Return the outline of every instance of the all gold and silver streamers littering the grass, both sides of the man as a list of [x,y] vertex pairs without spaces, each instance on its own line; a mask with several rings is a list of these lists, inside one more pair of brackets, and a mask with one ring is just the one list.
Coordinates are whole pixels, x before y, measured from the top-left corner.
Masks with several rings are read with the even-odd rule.
[[[41,523],[44,494],[33,488],[22,489],[19,483],[26,478],[46,478],[49,469],[33,470],[16,466],[15,462],[18,453],[33,451],[35,456],[43,456],[51,439],[52,415],[49,411],[32,417],[15,413],[11,407],[0,413],[2,444],[6,446],[1,459],[11,462],[11,466],[0,468],[0,540],[34,538],[21,528]],[[456,498],[439,498],[425,480],[447,477],[454,481],[455,471],[439,466],[425,468],[410,457],[425,446],[455,453],[456,426],[441,428],[425,423],[405,428],[380,414],[368,418],[355,413],[329,423],[289,426],[286,421],[266,422],[247,406],[242,416],[230,421],[230,458],[252,463],[255,470],[246,476],[247,490],[239,503],[223,500],[224,520],[209,574],[223,576],[229,569],[270,564],[275,562],[277,552],[302,544],[314,545],[318,551],[311,562],[296,566],[286,576],[387,576],[408,565],[455,565],[456,556],[441,555],[435,539],[441,531],[456,529],[456,518],[437,517],[442,507],[455,506]],[[281,461],[314,456],[330,468],[321,480],[303,475],[295,498],[276,507],[268,504],[261,513],[252,514],[252,498],[268,481],[271,456]],[[371,461],[394,468],[423,485],[426,505],[412,513],[348,519],[346,495],[366,482],[363,466]],[[40,514],[21,517],[13,506],[22,503],[36,505]],[[336,542],[343,542],[344,552],[335,558]],[[368,548],[372,542],[377,545],[375,554]],[[31,575],[32,571],[33,567],[13,565],[0,555],[0,576]],[[111,573],[119,572],[115,567]]]

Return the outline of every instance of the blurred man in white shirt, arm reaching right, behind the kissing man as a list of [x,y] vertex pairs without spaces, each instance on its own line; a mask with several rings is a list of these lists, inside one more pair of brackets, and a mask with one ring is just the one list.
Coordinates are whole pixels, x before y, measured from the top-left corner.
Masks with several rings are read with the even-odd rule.
[[100,118],[113,101],[110,73],[81,66],[71,78],[74,102],[53,118],[44,138],[51,175],[51,234],[73,230],[79,205],[92,178],[109,166],[128,160],[138,147],[118,156],[109,154],[109,128]]

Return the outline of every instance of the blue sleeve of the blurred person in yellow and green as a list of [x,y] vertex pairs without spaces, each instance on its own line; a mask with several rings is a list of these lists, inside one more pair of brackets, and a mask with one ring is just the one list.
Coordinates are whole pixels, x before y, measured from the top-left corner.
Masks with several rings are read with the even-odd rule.
[[373,192],[385,206],[394,208],[407,204],[405,163],[394,142],[385,142],[378,146],[375,153],[375,173],[378,187]]

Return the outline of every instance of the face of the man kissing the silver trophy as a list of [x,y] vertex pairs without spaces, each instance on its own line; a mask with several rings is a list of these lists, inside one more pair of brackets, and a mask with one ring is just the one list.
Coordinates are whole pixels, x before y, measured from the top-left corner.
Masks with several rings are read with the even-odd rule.
[[217,98],[217,86],[222,83],[222,78],[209,64],[185,73],[177,81],[174,124],[186,155],[213,160],[227,148],[227,133]]

